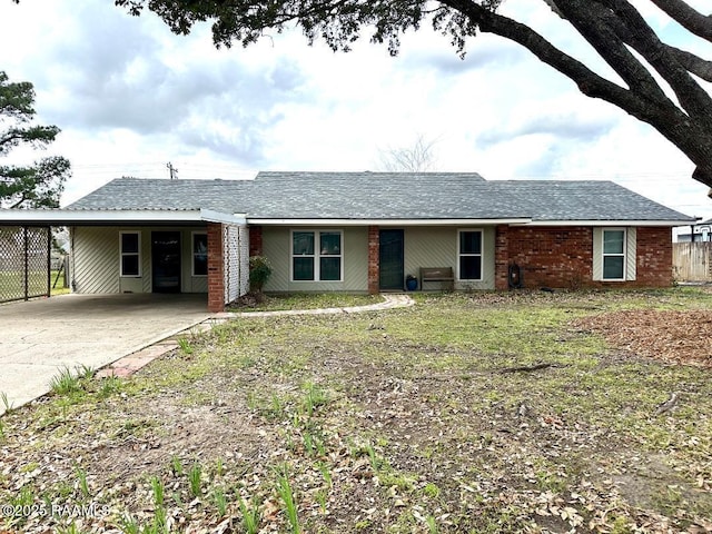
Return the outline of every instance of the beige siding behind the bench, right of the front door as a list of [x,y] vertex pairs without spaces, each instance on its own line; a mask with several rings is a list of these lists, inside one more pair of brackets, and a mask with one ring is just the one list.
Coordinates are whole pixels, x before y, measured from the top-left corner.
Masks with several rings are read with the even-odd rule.
[[[482,230],[482,280],[457,280],[458,230]],[[495,229],[491,227],[408,227],[404,231],[405,274],[418,276],[421,267],[452,267],[455,289],[494,289]],[[426,289],[437,289],[432,283]]]

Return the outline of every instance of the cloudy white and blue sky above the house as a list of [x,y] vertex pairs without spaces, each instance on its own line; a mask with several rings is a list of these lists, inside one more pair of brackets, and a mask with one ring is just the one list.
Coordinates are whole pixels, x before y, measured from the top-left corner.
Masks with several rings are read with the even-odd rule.
[[[174,36],[112,0],[0,2],[0,70],[34,83],[39,120],[62,129],[50,154],[72,162],[63,204],[120,176],[168,178],[168,162],[184,179],[384,170],[383,154],[423,137],[433,142],[432,170],[612,179],[712,217],[708,188],[678,149],[496,37],[471,40],[465,60],[429,27],[407,34],[397,58],[368,42],[333,53],[296,32],[216,50],[207,26]],[[712,58],[709,43],[647,0],[635,3],[666,39]],[[505,0],[503,12],[596,61],[543,1]]]

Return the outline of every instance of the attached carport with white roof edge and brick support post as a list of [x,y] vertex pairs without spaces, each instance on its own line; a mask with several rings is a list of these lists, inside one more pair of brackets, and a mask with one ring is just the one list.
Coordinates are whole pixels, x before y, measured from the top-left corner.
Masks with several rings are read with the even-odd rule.
[[[240,214],[205,208],[2,209],[0,228],[8,227],[69,228],[72,293],[159,293],[169,283],[175,293],[201,293],[207,309],[221,312],[249,287],[249,231]],[[161,250],[157,236],[162,237]],[[192,248],[198,237],[204,247],[200,273]],[[159,270],[166,273],[160,278]]]

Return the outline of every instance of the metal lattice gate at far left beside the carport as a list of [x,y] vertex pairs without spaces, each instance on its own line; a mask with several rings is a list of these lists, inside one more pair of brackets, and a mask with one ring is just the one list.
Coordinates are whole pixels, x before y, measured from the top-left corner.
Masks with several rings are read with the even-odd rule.
[[49,297],[51,236],[48,227],[0,227],[0,303]]

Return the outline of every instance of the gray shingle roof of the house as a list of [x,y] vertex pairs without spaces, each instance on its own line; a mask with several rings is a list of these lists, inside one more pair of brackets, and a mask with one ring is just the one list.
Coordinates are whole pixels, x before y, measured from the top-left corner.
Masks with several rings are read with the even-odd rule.
[[250,219],[686,221],[611,181],[486,181],[464,172],[260,172],[255,180],[121,178],[67,209],[212,209]]

